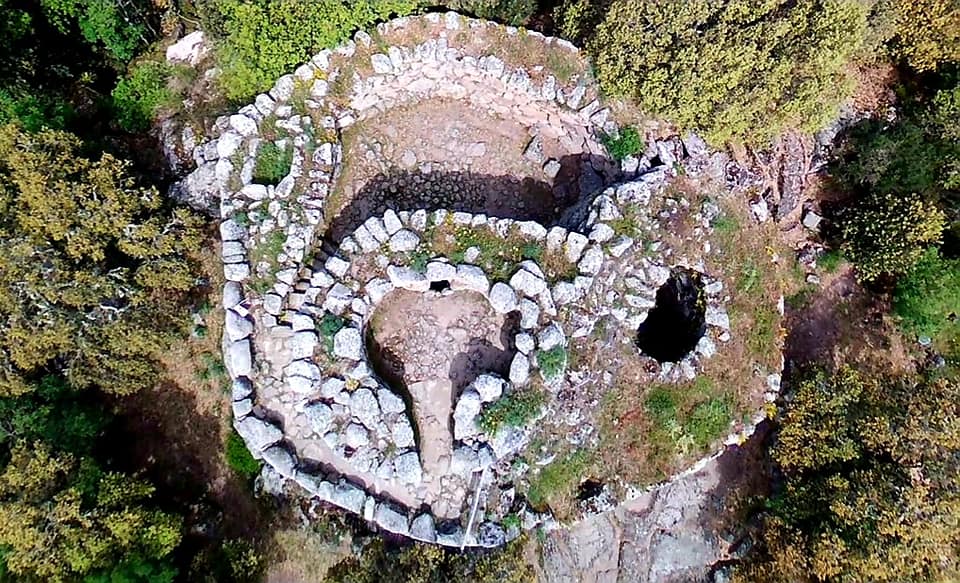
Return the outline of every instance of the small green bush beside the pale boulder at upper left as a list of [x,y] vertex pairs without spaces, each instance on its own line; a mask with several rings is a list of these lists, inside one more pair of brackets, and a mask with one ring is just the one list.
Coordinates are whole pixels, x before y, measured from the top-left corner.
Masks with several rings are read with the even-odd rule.
[[176,103],[167,85],[172,71],[166,62],[143,61],[117,83],[111,96],[120,127],[129,132],[144,131],[158,110]]

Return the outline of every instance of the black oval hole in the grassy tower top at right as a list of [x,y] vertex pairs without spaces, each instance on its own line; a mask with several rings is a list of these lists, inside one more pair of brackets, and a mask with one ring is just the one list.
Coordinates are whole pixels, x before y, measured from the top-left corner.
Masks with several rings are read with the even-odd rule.
[[637,346],[657,362],[682,360],[706,332],[705,309],[700,275],[675,269],[637,330]]

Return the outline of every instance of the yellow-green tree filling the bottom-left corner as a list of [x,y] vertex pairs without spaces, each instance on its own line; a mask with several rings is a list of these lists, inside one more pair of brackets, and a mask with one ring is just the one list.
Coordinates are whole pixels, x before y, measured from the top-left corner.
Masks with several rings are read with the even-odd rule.
[[88,459],[18,443],[0,475],[0,546],[11,573],[70,581],[138,557],[163,561],[181,521],[150,506],[154,489]]

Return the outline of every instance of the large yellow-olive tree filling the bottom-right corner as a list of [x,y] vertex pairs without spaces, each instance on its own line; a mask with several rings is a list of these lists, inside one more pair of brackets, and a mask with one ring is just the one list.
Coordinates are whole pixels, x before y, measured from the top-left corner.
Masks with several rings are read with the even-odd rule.
[[742,581],[960,577],[960,382],[851,369],[801,383],[774,459],[785,483]]

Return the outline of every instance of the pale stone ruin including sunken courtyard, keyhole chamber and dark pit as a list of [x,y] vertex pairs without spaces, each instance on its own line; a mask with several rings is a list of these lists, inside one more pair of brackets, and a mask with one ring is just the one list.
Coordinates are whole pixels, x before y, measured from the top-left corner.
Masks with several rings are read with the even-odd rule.
[[[235,427],[264,481],[387,532],[492,547],[552,519],[512,487],[536,420],[485,429],[485,411],[568,383],[565,347],[599,310],[665,382],[722,353],[730,323],[697,258],[635,238],[661,228],[651,197],[691,152],[709,160],[703,142],[614,162],[599,136],[618,128],[587,74],[478,53],[457,41],[466,29],[579,58],[454,13],[398,19],[379,36],[406,44],[358,33],[221,118],[185,186],[219,205]],[[403,126],[445,108],[463,129]],[[487,123],[503,141],[471,137]],[[360,125],[385,137],[345,147]],[[290,161],[277,180],[259,178],[267,151]],[[715,208],[699,212],[709,227]],[[603,292],[614,280],[622,305]]]

